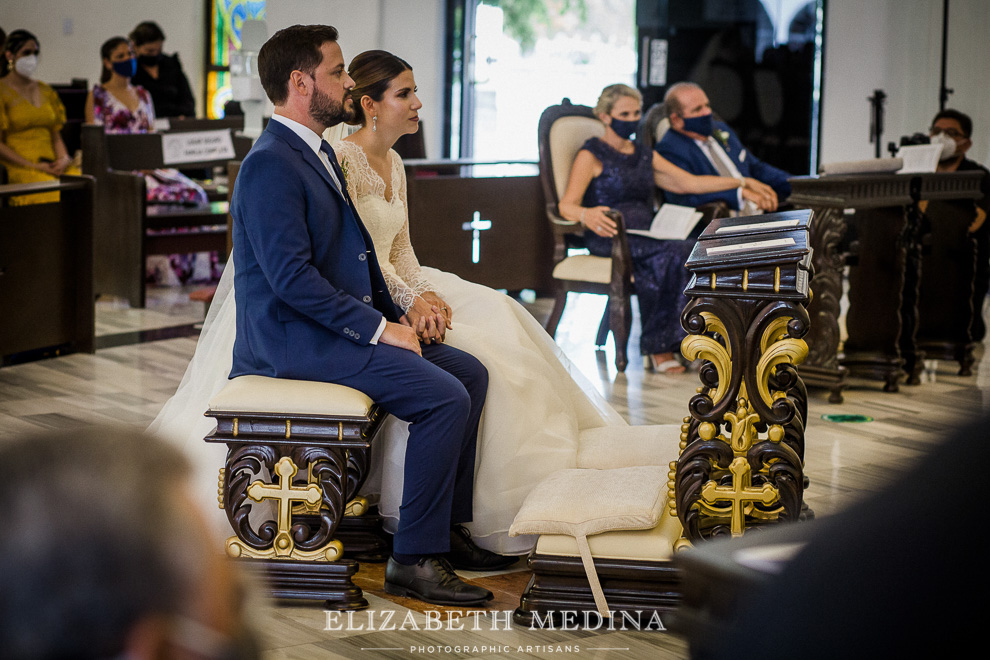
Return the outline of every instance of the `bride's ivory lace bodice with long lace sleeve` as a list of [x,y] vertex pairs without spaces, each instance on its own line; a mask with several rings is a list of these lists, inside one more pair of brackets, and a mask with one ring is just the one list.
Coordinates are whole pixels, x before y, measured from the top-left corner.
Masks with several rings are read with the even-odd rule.
[[408,311],[416,296],[436,291],[436,288],[423,276],[409,240],[406,172],[402,158],[395,151],[389,151],[392,199],[386,199],[385,182],[368,164],[364,149],[347,141],[337,142],[333,148],[344,170],[347,192],[375,243],[375,254],[385,275],[389,295],[402,311]]

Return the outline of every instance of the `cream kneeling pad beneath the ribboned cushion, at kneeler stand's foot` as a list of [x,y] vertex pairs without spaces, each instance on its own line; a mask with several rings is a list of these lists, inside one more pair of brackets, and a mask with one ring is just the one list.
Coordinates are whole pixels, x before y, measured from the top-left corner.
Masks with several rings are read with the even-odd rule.
[[[674,543],[681,537],[681,521],[664,511],[660,524],[651,529],[620,530],[588,537],[591,556],[596,559],[665,561],[674,554]],[[536,543],[541,555],[580,557],[577,540],[564,534],[544,534]]]

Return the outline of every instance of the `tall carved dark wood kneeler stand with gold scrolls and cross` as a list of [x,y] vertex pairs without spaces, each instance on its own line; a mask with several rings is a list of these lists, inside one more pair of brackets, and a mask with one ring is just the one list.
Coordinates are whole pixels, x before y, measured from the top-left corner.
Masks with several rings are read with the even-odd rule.
[[701,358],[671,513],[690,541],[802,515],[811,211],[714,221],[687,267],[681,352]]

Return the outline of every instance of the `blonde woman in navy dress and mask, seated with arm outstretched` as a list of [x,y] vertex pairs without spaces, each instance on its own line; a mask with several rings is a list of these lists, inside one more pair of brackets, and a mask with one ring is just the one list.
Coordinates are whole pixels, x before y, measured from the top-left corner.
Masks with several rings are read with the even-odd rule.
[[[612,254],[616,226],[605,215],[610,209],[622,213],[627,229],[650,228],[657,186],[677,193],[742,187],[743,195],[761,208],[776,208],[773,190],[755,179],[695,176],[650,147],[630,140],[639,124],[641,108],[642,97],[632,87],[616,84],[602,91],[595,114],[605,125],[605,135],[591,138],[581,147],[560,200],[561,215],[585,226],[585,244],[592,254]],[[674,354],[684,337],[680,315],[689,275],[684,262],[694,240],[659,241],[629,235],[628,241],[642,323],[640,353],[656,371],[683,372]]]

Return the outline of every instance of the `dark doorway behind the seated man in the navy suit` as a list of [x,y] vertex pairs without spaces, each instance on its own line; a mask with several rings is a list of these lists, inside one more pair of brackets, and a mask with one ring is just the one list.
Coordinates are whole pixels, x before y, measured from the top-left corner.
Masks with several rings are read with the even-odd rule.
[[639,0],[639,86],[701,85],[760,159],[792,174],[818,168],[826,0]]

